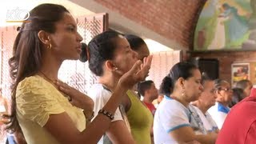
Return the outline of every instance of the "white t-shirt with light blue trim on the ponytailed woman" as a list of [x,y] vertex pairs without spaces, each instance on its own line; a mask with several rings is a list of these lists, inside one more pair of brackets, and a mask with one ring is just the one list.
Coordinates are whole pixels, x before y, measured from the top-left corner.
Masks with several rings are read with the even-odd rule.
[[191,126],[195,134],[207,133],[193,106],[165,96],[154,115],[154,143],[177,143],[169,133],[183,126]]

